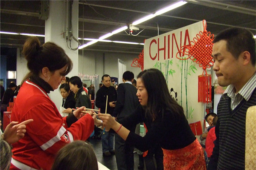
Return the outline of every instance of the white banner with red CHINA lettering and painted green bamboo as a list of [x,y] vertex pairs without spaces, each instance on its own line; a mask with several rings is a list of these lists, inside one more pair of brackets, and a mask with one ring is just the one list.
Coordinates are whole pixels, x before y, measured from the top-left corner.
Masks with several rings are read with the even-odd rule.
[[[162,71],[169,93],[182,105],[189,123],[202,123],[204,119],[204,104],[198,103],[198,75],[203,69],[191,59],[177,59],[176,54],[200,31],[204,31],[203,21],[147,39],[144,45],[144,70],[157,68]],[[177,57],[188,58],[182,53]]]

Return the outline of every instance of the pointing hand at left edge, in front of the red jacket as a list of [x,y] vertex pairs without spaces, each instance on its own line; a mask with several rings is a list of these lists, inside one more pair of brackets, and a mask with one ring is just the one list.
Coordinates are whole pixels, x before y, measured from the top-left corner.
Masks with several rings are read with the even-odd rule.
[[33,119],[25,120],[20,124],[18,122],[12,121],[9,125],[6,126],[6,129],[3,133],[3,139],[9,144],[13,144],[23,138],[26,133],[26,124],[33,122]]

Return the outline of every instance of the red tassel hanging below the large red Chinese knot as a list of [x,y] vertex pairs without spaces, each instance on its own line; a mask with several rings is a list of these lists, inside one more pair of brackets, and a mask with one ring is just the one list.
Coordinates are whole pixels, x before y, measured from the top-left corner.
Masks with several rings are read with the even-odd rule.
[[212,102],[212,76],[209,74],[198,76],[198,102]]

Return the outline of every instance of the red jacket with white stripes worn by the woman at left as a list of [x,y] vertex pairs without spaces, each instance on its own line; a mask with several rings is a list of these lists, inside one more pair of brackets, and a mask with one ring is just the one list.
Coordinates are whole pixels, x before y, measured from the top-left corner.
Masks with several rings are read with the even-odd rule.
[[26,170],[29,167],[50,170],[61,147],[73,140],[85,141],[94,129],[94,121],[89,114],[67,128],[46,91],[30,81],[21,86],[11,116],[11,121],[23,122],[27,119],[34,121],[26,125],[25,136],[12,144],[10,170]]

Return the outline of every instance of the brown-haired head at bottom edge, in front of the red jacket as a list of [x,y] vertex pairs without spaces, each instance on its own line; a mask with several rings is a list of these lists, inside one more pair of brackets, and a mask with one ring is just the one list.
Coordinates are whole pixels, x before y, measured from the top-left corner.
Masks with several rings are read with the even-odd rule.
[[74,141],[58,151],[52,170],[99,170],[99,168],[90,144]]

